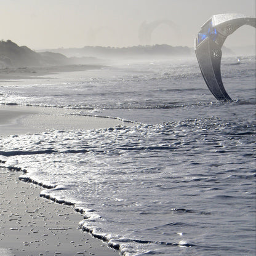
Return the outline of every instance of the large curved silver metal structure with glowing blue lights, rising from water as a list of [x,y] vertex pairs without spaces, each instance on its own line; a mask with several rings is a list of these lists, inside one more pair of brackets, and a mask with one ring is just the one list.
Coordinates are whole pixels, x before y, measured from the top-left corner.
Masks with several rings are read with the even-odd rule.
[[231,101],[222,83],[220,62],[226,38],[242,25],[255,27],[255,18],[243,14],[218,14],[212,16],[194,39],[194,50],[204,81],[217,100]]

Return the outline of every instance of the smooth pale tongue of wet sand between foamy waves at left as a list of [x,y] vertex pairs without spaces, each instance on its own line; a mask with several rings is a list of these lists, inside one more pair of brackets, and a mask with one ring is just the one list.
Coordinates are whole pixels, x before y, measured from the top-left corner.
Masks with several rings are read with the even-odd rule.
[[34,134],[48,130],[100,129],[126,122],[112,118],[81,116],[79,110],[41,106],[0,105],[0,136]]

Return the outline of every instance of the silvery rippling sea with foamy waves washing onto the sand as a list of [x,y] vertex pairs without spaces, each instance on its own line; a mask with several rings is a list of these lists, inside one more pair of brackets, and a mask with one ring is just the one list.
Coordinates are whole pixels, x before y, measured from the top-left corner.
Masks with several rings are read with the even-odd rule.
[[120,255],[255,255],[255,56],[223,57],[222,79],[233,102],[195,57],[1,81],[1,104],[126,121],[2,136],[1,166],[72,204]]

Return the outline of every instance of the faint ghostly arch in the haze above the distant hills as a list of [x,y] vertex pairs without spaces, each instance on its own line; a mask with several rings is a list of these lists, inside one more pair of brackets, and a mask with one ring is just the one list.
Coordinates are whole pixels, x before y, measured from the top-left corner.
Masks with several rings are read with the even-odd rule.
[[172,30],[175,31],[175,33],[177,33],[177,35],[180,34],[180,29],[178,28],[178,25],[172,22],[172,20],[154,20],[153,22],[144,21],[138,29],[138,39],[140,41],[140,44],[150,45],[153,31],[162,24],[168,25]]

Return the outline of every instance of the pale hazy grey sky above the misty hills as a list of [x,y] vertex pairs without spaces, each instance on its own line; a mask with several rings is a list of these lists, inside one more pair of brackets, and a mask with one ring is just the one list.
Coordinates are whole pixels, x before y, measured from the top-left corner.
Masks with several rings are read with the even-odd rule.
[[[200,26],[222,13],[255,17],[255,0],[0,0],[0,39],[31,49],[135,46],[143,22],[165,20],[151,44],[193,47]],[[252,44],[255,28],[242,26],[225,46]]]

